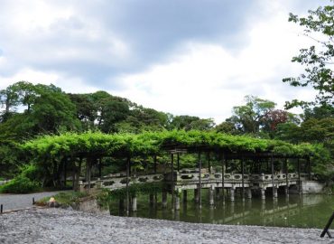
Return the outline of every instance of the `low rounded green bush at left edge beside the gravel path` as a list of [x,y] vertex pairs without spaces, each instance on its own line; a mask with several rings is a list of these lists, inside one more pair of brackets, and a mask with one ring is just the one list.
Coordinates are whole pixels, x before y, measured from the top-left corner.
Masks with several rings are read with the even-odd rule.
[[19,174],[9,183],[0,186],[0,192],[3,193],[28,193],[41,191],[41,185],[33,182],[28,177]]

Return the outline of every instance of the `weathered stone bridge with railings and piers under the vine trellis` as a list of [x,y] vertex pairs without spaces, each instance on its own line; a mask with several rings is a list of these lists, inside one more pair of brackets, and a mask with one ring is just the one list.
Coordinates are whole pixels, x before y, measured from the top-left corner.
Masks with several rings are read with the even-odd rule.
[[[244,176],[244,177],[243,177]],[[273,197],[277,197],[277,190],[283,188],[285,194],[289,194],[289,188],[296,187],[301,190],[302,181],[307,180],[309,174],[222,174],[209,173],[206,169],[182,169],[173,174],[145,174],[126,176],[126,174],[109,174],[102,179],[89,183],[80,183],[80,189],[89,187],[107,188],[111,191],[126,188],[136,183],[166,183],[172,193],[172,203],[175,210],[180,209],[180,196],[183,192],[183,200],[187,199],[187,190],[194,190],[195,202],[201,202],[201,189],[209,189],[209,204],[214,204],[214,192],[221,193],[223,199],[228,193],[231,202],[235,201],[235,192],[241,192],[243,199],[252,198],[252,192],[261,195],[265,199],[265,190],[270,188]],[[173,191],[172,191],[173,189]],[[224,191],[221,191],[224,189]],[[135,197],[134,197],[135,198]],[[132,201],[136,204],[136,200]],[[134,203],[135,202],[135,203]],[[162,191],[162,206],[167,205],[167,192]],[[200,204],[199,204],[200,205]],[[133,206],[136,209],[136,206]]]

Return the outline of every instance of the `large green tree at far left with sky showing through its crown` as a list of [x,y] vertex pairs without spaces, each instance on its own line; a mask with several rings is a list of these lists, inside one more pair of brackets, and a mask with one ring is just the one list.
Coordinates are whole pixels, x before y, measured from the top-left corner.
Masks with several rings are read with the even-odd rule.
[[0,134],[5,138],[17,141],[38,134],[79,129],[76,108],[60,88],[20,81],[5,90],[15,94],[11,109],[23,105],[28,107],[0,124]]

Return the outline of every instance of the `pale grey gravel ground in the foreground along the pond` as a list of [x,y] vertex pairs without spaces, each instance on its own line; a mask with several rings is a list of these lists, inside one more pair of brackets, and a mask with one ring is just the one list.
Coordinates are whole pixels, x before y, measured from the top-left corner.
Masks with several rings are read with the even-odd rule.
[[63,209],[0,215],[0,243],[334,243],[321,230],[198,224]]

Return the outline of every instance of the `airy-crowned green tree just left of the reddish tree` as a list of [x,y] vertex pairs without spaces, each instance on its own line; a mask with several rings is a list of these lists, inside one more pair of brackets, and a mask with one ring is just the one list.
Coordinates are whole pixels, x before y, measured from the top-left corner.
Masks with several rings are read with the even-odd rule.
[[257,134],[264,127],[264,117],[271,112],[275,103],[254,96],[246,96],[246,105],[233,108],[233,116],[227,122],[233,123],[243,133]]

